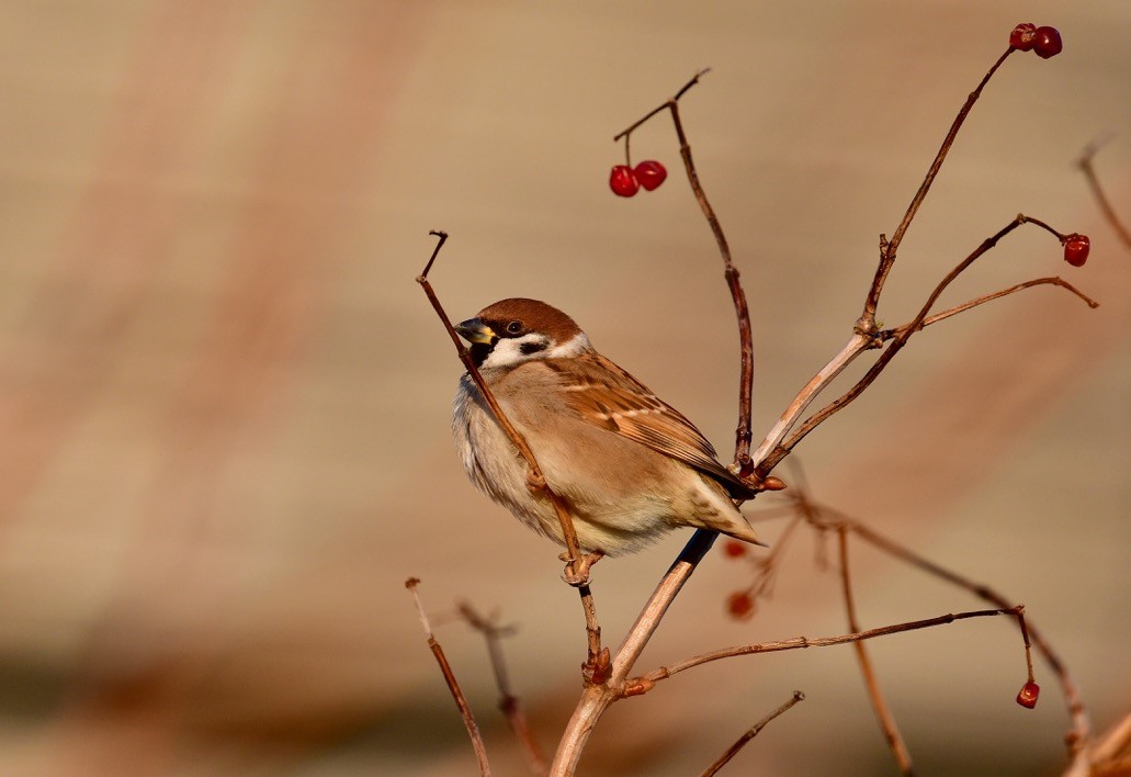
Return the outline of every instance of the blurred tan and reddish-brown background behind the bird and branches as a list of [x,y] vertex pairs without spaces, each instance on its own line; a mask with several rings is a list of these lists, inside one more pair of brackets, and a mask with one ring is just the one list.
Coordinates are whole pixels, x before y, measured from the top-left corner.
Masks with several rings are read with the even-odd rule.
[[[558,549],[465,481],[452,318],[527,295],[733,444],[737,344],[670,122],[633,136],[668,182],[606,181],[612,137],[682,102],[743,271],[754,432],[848,338],[877,259],[958,107],[1019,21],[1064,52],[1010,58],[905,240],[880,316],[1018,211],[943,304],[1062,275],[933,327],[800,448],[814,498],[1027,605],[1104,728],[1126,644],[1131,253],[1073,162],[1131,218],[1131,5],[7,0],[0,3],[0,772],[466,775],[475,762],[403,582],[421,593],[499,774],[524,774],[459,601],[517,628],[510,670],[553,749],[585,634]],[[780,473],[798,484],[788,467]],[[759,500],[749,511],[784,503]],[[784,524],[768,524],[769,542]],[[687,533],[594,572],[614,645]],[[845,631],[801,535],[772,601],[705,562],[641,670]],[[830,544],[827,551],[835,550]],[[831,555],[829,558],[832,558]],[[865,627],[978,608],[853,551]],[[922,774],[1056,774],[1012,623],[871,644]],[[803,690],[735,774],[892,774],[851,648],[717,663],[618,705],[582,771],[697,774]]]

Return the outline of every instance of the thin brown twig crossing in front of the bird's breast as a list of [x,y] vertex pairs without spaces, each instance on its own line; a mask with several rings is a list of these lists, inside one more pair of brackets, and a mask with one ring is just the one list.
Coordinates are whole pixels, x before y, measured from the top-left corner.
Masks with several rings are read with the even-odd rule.
[[550,484],[546,483],[545,475],[542,473],[542,467],[538,466],[534,451],[530,450],[526,440],[518,433],[518,430],[515,429],[513,424],[511,424],[507,414],[502,412],[502,408],[499,406],[499,402],[491,392],[486,381],[483,380],[483,375],[480,374],[478,368],[476,368],[475,361],[472,359],[472,352],[464,345],[459,335],[456,333],[455,327],[451,326],[451,319],[448,318],[448,313],[444,311],[443,305],[440,303],[440,299],[432,290],[432,284],[428,279],[428,274],[432,269],[432,265],[435,262],[437,257],[440,254],[440,249],[443,248],[444,242],[448,240],[448,233],[433,230],[429,234],[435,235],[438,239],[437,244],[432,250],[432,256],[429,258],[428,264],[424,265],[424,270],[416,277],[416,283],[418,283],[424,290],[424,294],[428,296],[429,302],[432,303],[433,310],[435,310],[437,316],[440,317],[443,328],[448,331],[448,336],[456,345],[456,353],[459,355],[459,361],[464,363],[467,374],[469,374],[472,380],[475,381],[475,386],[478,388],[480,395],[487,403],[487,406],[494,414],[499,425],[502,426],[502,430],[507,433],[507,437],[510,438],[510,441],[515,443],[515,447],[526,460],[530,470],[529,481],[532,487],[539,489],[546,494],[551,503],[554,506],[554,511],[558,513],[558,520],[561,523],[562,537],[564,538],[567,549],[566,580],[570,585],[577,587],[578,595],[581,598],[581,611],[585,614],[585,629],[588,644],[588,658],[582,665],[586,667],[585,677],[587,682],[601,682],[607,668],[607,650],[602,650],[601,647],[601,625],[597,622],[596,605],[594,604],[593,593],[589,590],[588,585],[589,567],[601,556],[599,554],[581,553],[578,547],[577,532],[573,529],[573,518],[570,516],[569,509],[566,507],[566,502],[554,492],[552,487],[550,487]]

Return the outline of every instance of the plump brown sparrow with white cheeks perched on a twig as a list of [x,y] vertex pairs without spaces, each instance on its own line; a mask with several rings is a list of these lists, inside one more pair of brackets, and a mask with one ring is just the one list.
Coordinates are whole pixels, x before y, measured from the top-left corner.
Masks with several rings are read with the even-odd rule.
[[[756,491],[718,461],[687,417],[601,355],[572,318],[512,297],[455,330],[569,510],[581,551],[633,553],[677,527],[763,544],[734,501]],[[459,380],[452,433],[480,491],[566,544],[552,500],[532,487],[527,461],[469,372]]]

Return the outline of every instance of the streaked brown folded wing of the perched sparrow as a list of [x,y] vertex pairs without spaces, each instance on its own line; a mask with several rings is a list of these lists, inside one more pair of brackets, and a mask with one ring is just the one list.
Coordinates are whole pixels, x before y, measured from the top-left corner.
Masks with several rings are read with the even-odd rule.
[[598,369],[586,360],[546,361],[562,375],[567,402],[582,418],[710,475],[736,497],[750,495],[682,413],[604,356],[592,359]]

